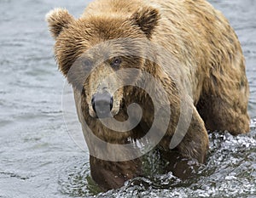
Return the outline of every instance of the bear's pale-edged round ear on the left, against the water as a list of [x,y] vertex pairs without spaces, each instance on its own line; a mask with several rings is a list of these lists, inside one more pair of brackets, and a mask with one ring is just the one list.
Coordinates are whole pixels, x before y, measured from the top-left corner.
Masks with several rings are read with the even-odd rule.
[[68,13],[67,9],[55,8],[46,14],[45,20],[48,22],[49,31],[51,32],[52,37],[56,39],[63,28],[71,24],[74,18]]

